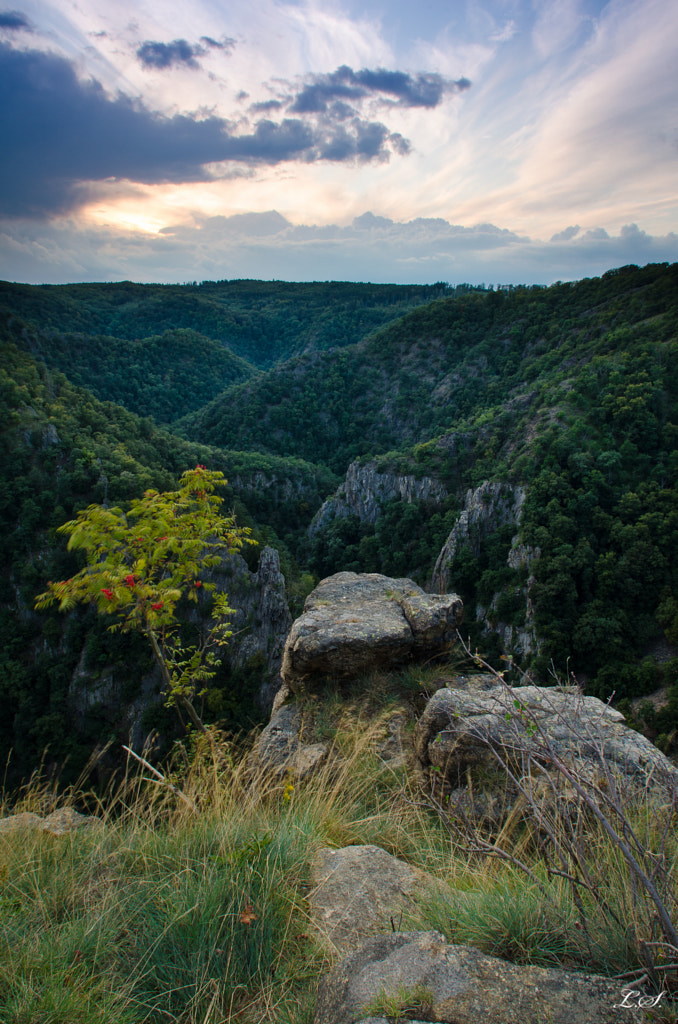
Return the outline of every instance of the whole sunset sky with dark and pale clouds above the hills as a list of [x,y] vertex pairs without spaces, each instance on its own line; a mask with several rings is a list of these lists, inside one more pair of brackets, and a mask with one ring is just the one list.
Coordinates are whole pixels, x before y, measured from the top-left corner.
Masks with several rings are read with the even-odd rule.
[[672,0],[0,0],[0,278],[678,260]]

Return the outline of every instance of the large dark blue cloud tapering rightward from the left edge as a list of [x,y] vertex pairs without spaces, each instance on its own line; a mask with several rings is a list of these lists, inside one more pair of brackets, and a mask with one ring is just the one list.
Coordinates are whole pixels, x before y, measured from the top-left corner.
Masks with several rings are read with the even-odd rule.
[[[407,140],[379,123],[263,118],[249,132],[231,123],[154,113],[80,81],[54,53],[0,44],[0,214],[40,217],[84,202],[84,182],[154,184],[210,179],[206,164],[387,160]],[[241,129],[242,130],[242,129]]]

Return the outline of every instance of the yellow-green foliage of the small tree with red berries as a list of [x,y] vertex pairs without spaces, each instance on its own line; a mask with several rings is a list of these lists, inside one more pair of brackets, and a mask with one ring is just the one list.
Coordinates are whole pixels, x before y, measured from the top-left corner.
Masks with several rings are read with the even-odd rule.
[[59,532],[70,536],[69,550],[83,551],[87,564],[70,580],[49,583],[36,608],[57,603],[59,611],[93,604],[100,615],[117,621],[111,629],[143,634],[163,674],[170,705],[180,702],[194,725],[204,726],[194,708],[196,695],[214,676],[215,648],[226,644],[231,631],[226,594],[214,595],[212,624],[198,643],[179,634],[179,605],[198,603],[203,591],[216,585],[203,577],[252,543],[247,526],[222,516],[223,499],[214,494],[225,483],[223,474],[198,465],[182,474],[178,490],[146,490],[121,508],[90,505]]

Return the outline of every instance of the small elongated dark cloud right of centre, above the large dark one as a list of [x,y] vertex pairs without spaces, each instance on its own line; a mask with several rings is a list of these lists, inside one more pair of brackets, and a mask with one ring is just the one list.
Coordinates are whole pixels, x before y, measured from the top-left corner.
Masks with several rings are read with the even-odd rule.
[[342,65],[329,75],[313,75],[294,97],[294,114],[322,114],[336,100],[359,102],[368,97],[396,103],[399,106],[437,106],[449,93],[470,88],[466,78],[457,81],[442,75],[409,75],[401,71],[378,68],[353,71]]

